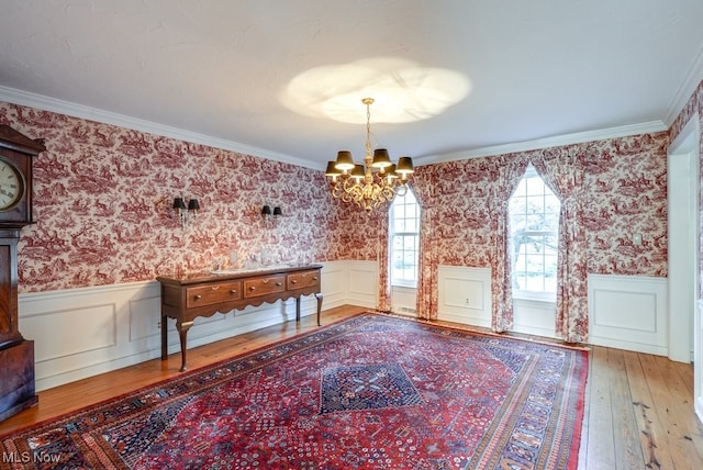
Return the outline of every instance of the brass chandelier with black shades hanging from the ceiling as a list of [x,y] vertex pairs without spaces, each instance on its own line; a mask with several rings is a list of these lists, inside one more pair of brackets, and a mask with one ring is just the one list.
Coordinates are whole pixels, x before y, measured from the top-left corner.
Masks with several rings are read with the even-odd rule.
[[394,165],[388,149],[377,148],[371,155],[371,104],[373,98],[364,98],[366,104],[366,157],[364,165],[357,165],[352,152],[339,150],[336,161],[328,161],[325,176],[330,177],[332,195],[344,202],[355,202],[367,213],[395,194],[408,191],[408,180],[414,172],[413,160],[400,157]]

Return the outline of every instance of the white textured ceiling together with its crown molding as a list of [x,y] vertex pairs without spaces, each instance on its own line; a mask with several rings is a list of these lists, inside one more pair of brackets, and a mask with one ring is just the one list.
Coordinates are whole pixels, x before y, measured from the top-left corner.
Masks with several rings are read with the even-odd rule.
[[[444,92],[468,94],[421,121],[375,122],[375,112],[409,107],[375,97],[376,143],[393,159],[409,155],[417,164],[663,130],[703,78],[701,0],[3,0],[1,7],[0,100],[321,169],[342,148],[360,159],[365,126],[320,113],[314,92],[354,97],[359,89],[365,115],[360,99],[377,83],[399,85],[422,107],[434,98],[415,85],[431,82],[437,69],[461,77],[438,85],[439,100]],[[421,74],[413,80],[404,71],[410,66]],[[320,67],[328,68],[320,74]],[[311,69],[319,82],[305,75]],[[297,77],[309,88],[304,104],[289,97]]]

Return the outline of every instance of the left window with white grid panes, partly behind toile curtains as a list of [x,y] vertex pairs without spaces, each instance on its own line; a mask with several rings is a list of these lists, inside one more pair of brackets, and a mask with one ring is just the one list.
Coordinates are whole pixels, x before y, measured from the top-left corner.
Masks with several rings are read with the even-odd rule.
[[410,188],[404,195],[393,199],[389,231],[391,284],[414,288],[417,286],[420,204]]

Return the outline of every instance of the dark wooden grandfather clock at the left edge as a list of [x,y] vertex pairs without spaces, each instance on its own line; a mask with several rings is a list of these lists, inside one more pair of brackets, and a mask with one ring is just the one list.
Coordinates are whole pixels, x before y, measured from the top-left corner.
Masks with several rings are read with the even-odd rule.
[[18,242],[32,223],[32,158],[46,148],[0,125],[0,421],[37,402],[34,342],[18,327]]

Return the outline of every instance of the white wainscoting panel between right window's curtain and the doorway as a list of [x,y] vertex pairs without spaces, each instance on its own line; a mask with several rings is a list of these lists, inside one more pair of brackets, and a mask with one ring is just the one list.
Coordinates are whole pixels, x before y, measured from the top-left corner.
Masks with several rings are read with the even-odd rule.
[[589,275],[589,343],[668,355],[666,278]]

